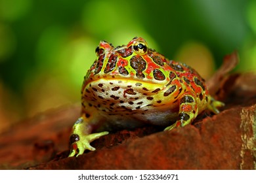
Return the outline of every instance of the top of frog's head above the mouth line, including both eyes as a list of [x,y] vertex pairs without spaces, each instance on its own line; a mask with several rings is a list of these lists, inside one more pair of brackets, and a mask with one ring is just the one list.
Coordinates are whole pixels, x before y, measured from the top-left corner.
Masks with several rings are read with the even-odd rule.
[[96,47],[96,60],[87,73],[87,79],[133,78],[135,80],[165,80],[169,66],[164,56],[148,48],[141,37],[135,37],[127,45],[117,46],[100,41]]

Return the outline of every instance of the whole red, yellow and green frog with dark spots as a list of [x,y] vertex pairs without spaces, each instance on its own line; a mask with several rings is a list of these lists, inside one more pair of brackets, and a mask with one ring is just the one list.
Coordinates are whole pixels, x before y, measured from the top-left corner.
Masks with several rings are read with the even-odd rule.
[[95,133],[102,125],[153,124],[171,130],[190,124],[205,109],[217,114],[224,105],[209,95],[205,80],[194,69],[148,48],[140,37],[116,48],[101,41],[96,56],[84,77],[81,117],[70,136],[70,156],[95,150],[90,142],[108,134]]

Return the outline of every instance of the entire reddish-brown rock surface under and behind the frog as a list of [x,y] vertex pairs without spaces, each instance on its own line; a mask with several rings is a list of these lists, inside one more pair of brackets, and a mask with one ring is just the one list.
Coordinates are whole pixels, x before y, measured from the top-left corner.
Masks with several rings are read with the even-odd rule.
[[255,81],[251,74],[226,78],[219,90],[226,107],[218,115],[203,113],[173,131],[117,131],[78,158],[66,157],[80,107],[45,112],[1,134],[0,169],[255,169]]

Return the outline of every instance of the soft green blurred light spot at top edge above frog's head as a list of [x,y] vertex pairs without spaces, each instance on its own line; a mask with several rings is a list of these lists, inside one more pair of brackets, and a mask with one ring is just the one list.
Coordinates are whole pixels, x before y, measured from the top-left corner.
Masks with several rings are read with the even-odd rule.
[[128,13],[130,9],[131,4],[127,1],[91,1],[83,10],[83,27],[91,35],[102,39],[108,39],[106,36],[118,29],[139,31],[135,26],[138,25],[137,17],[133,17],[133,13]]

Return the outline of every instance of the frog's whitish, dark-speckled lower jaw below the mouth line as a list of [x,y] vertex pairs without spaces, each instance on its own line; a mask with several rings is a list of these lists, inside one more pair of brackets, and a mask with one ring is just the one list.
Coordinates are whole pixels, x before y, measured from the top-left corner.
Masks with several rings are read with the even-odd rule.
[[83,97],[98,110],[112,114],[122,111],[147,111],[152,108],[175,108],[176,105],[169,105],[169,100],[162,100],[165,90],[166,88],[158,84],[99,79],[85,87]]

